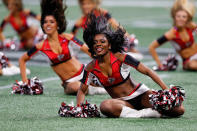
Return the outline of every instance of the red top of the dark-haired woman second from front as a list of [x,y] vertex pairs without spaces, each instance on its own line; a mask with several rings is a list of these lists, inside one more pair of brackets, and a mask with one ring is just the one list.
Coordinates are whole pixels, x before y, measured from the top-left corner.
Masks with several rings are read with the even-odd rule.
[[27,52],[28,56],[33,56],[37,51],[43,52],[51,61],[51,66],[58,65],[60,63],[63,63],[69,59],[71,59],[71,50],[70,50],[70,43],[74,42],[78,46],[82,46],[83,42],[79,41],[75,37],[73,37],[71,40],[67,40],[66,38],[62,36],[58,36],[60,46],[62,47],[62,52],[60,54],[54,53],[51,50],[51,47],[49,45],[48,39],[44,40],[43,46],[40,50],[38,50],[36,47],[33,47],[31,50]]

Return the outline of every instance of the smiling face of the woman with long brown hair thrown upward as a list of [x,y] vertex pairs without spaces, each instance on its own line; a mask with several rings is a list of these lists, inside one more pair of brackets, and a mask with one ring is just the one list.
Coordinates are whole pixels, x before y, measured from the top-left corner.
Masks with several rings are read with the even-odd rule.
[[47,35],[51,35],[51,34],[57,32],[57,21],[54,18],[54,16],[49,15],[49,16],[45,17],[43,29]]

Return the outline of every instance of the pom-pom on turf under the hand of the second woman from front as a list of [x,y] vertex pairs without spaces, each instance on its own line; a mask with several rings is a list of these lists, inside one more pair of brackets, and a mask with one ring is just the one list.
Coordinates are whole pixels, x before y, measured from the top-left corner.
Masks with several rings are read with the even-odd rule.
[[43,94],[43,85],[41,80],[33,77],[28,80],[28,84],[22,81],[16,82],[12,86],[12,94],[40,95]]

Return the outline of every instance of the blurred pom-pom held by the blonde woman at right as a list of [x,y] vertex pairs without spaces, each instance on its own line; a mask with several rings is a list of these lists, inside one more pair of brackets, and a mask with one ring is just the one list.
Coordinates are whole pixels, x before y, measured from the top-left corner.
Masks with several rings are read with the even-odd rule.
[[154,66],[155,71],[174,71],[178,67],[178,59],[175,55],[168,55],[168,57],[162,61],[162,67]]

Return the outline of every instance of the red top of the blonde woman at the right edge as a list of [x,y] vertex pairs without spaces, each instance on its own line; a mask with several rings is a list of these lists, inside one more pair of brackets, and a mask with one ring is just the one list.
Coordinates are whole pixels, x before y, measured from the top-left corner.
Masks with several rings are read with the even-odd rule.
[[185,42],[180,38],[179,32],[175,28],[176,38],[172,39],[172,41],[175,42],[173,43],[173,46],[175,47],[176,50],[185,49],[187,47],[190,47],[194,43],[193,30],[190,28],[186,28],[186,30],[189,35],[189,40]]

